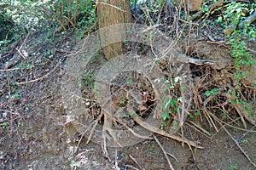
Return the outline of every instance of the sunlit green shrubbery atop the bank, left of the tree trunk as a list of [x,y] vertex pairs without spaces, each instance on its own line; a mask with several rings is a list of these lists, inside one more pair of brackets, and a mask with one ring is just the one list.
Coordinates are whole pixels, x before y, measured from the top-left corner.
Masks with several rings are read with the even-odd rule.
[[[25,1],[6,0],[7,7],[0,12],[0,47],[25,36],[31,31],[94,31],[95,3],[91,0]],[[12,37],[12,38],[11,38]]]

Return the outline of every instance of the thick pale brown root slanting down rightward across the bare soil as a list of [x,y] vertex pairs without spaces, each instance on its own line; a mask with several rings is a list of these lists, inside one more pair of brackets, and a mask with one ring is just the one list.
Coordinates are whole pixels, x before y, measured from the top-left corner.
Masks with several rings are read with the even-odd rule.
[[191,146],[194,146],[195,148],[198,148],[198,149],[204,149],[204,147],[202,146],[199,146],[198,144],[195,144],[195,142],[193,141],[190,141],[189,139],[185,139],[185,138],[180,138],[178,136],[175,136],[175,135],[172,135],[170,133],[166,133],[166,131],[158,128],[158,127],[153,127],[151,126],[150,124],[148,124],[148,122],[144,122],[139,116],[135,115],[132,117],[134,119],[135,122],[137,122],[140,126],[148,129],[148,131],[152,132],[152,133],[157,133],[157,134],[160,134],[162,136],[165,136],[167,138],[170,138],[170,139],[175,139],[179,142],[184,142],[185,144],[188,144],[189,145],[189,148],[191,149]]

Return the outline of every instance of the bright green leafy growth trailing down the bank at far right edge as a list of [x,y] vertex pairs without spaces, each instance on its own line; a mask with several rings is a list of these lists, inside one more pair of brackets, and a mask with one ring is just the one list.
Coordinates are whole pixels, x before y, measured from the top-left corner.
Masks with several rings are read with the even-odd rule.
[[[242,68],[250,68],[255,62],[253,55],[247,50],[246,41],[255,41],[256,31],[255,26],[241,26],[242,20],[246,16],[253,13],[256,3],[238,3],[230,2],[224,11],[223,16],[219,16],[217,22],[225,23],[225,29],[233,31],[228,35],[230,39],[230,54],[235,59],[236,74],[235,78],[239,81],[244,77],[245,73]],[[237,27],[238,26],[238,27]]]

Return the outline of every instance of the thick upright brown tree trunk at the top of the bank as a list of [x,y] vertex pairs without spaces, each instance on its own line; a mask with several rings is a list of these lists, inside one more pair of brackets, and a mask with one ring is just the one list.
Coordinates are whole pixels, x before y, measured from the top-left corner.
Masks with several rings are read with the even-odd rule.
[[[129,0],[99,0],[97,3],[97,18],[99,25],[102,50],[106,59],[112,59],[122,54],[122,41],[125,39],[125,26],[116,26],[102,29],[106,26],[131,22],[131,9]],[[122,32],[122,33],[121,33]],[[111,41],[110,41],[110,38]],[[114,38],[114,39],[113,39]],[[113,42],[109,44],[108,42]]]

